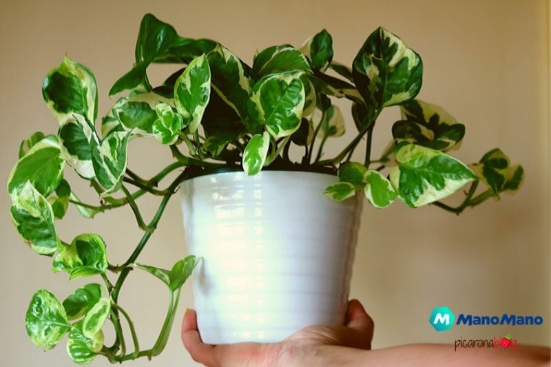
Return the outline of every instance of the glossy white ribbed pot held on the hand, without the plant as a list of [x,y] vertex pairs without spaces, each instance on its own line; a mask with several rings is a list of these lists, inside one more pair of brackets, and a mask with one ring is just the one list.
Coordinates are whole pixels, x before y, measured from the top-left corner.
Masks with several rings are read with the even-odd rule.
[[183,183],[203,342],[278,342],[315,324],[342,324],[362,211],[335,202],[335,176],[299,171],[210,174]]

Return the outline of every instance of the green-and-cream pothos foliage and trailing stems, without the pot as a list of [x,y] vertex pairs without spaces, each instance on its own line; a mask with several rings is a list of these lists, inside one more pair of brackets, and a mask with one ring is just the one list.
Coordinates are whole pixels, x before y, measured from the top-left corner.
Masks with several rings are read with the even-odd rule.
[[[103,117],[99,132],[94,74],[67,56],[48,73],[42,92],[59,128],[56,134],[37,132],[21,143],[19,161],[8,180],[12,220],[32,251],[53,257],[54,272],[65,271],[70,279],[98,275],[104,286],[86,284],[63,302],[49,291],[35,293],[26,328],[36,346],[53,348],[68,333],[67,353],[78,364],[87,364],[96,355],[117,362],[150,358],[163,350],[180,288],[197,259],[191,255],[171,270],[136,260],[178,185],[201,170],[236,167],[251,176],[264,167],[305,171],[329,167],[338,177],[325,191],[333,200],[346,200],[361,190],[377,208],[398,198],[409,207],[433,204],[455,213],[519,189],[523,169],[510,165],[499,149],[470,166],[448,154],[459,147],[465,127],[438,105],[415,99],[423,63],[395,34],[377,28],[352,67],[333,61],[332,43],[331,35],[322,30],[300,48],[275,45],[257,52],[249,66],[220,43],[183,38],[171,25],[146,14],[136,42],[136,62],[110,90],[110,96],[125,95]],[[152,63],[181,66],[153,87],[147,78]],[[351,101],[357,134],[340,154],[322,159],[326,140],[344,134],[344,118],[333,105],[334,98]],[[377,116],[395,105],[402,118],[392,126],[393,140],[373,160]],[[173,163],[149,179],[127,167],[127,147],[140,137],[156,138],[174,156]],[[353,151],[364,137],[365,159],[353,162]],[[304,154],[291,158],[292,146]],[[67,165],[90,181],[98,203],[79,200],[63,178]],[[176,179],[159,189],[176,170],[181,171]],[[486,189],[477,192],[480,182]],[[439,201],[467,184],[461,205],[450,207]],[[145,193],[161,198],[149,222],[136,205]],[[320,200],[327,200],[322,193]],[[69,205],[85,218],[128,205],[143,237],[127,261],[111,264],[99,235],[83,233],[70,242],[61,239],[55,221],[65,216]],[[118,304],[132,269],[152,273],[169,289],[165,323],[157,342],[147,349],[141,348],[132,319]],[[107,273],[116,276],[113,282]],[[132,334],[132,352],[127,352],[123,319]],[[104,345],[102,331],[107,320],[116,335],[110,346]]]

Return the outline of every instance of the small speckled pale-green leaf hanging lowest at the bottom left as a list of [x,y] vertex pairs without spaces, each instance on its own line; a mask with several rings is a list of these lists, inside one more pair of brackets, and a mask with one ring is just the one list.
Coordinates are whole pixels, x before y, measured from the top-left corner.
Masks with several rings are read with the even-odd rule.
[[103,331],[92,338],[84,336],[83,321],[74,324],[67,338],[67,354],[76,364],[89,364],[103,347]]

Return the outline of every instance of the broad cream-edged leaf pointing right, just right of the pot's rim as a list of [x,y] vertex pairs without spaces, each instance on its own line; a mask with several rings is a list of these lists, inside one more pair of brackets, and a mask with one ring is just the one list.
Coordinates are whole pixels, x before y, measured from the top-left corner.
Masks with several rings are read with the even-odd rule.
[[410,207],[446,198],[477,178],[459,160],[421,145],[402,143],[395,158],[399,165],[391,169],[391,182]]

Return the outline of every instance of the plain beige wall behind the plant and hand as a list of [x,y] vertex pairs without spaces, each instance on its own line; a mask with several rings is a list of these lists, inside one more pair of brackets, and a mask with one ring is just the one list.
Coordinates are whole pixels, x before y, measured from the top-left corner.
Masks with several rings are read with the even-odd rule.
[[[375,319],[375,348],[413,342],[453,343],[459,337],[492,338],[507,333],[519,345],[550,345],[550,74],[548,1],[2,1],[0,5],[0,182],[6,182],[17,149],[32,132],[56,132],[42,101],[41,82],[66,53],[96,74],[100,114],[114,101],[107,91],[132,65],[141,17],[153,12],[179,34],[216,39],[250,63],[255,50],[300,45],[326,28],[333,35],[335,60],[351,64],[366,36],[378,25],[399,35],[424,61],[419,98],[442,105],[466,124],[456,156],[475,162],[501,147],[525,167],[526,182],[516,196],[487,202],[457,217],[435,207],[408,209],[395,203],[362,215],[352,296]],[[152,67],[160,82],[176,67]],[[349,107],[344,107],[354,134]],[[375,129],[375,152],[390,139],[397,108],[382,115]],[[343,141],[331,142],[330,154]],[[362,156],[358,149],[357,159]],[[377,155],[375,153],[374,155]],[[169,162],[154,140],[134,141],[129,167],[144,176]],[[72,185],[84,198],[91,190]],[[63,299],[87,282],[52,274],[50,259],[26,248],[12,228],[9,199],[0,196],[1,355],[3,366],[71,366],[65,341],[43,353],[25,334],[23,319],[34,291],[48,288]],[[459,198],[450,199],[450,202]],[[156,200],[141,200],[150,216]],[[96,232],[105,238],[111,262],[123,261],[137,243],[129,208],[81,218],[74,208],[58,224],[62,238]],[[141,261],[169,267],[186,253],[179,202],[173,200]],[[96,280],[97,281],[97,280]],[[144,348],[162,324],[164,285],[132,272],[121,304],[134,317]],[[192,366],[180,342],[184,307],[191,307],[186,284],[165,353],[135,366]],[[436,333],[428,323],[435,306],[479,315],[542,315],[542,326],[459,326]],[[107,333],[111,335],[111,333]],[[451,348],[451,346],[450,346]],[[506,352],[504,350],[504,352]],[[129,364],[132,364],[130,362]],[[107,366],[98,357],[93,366]]]

